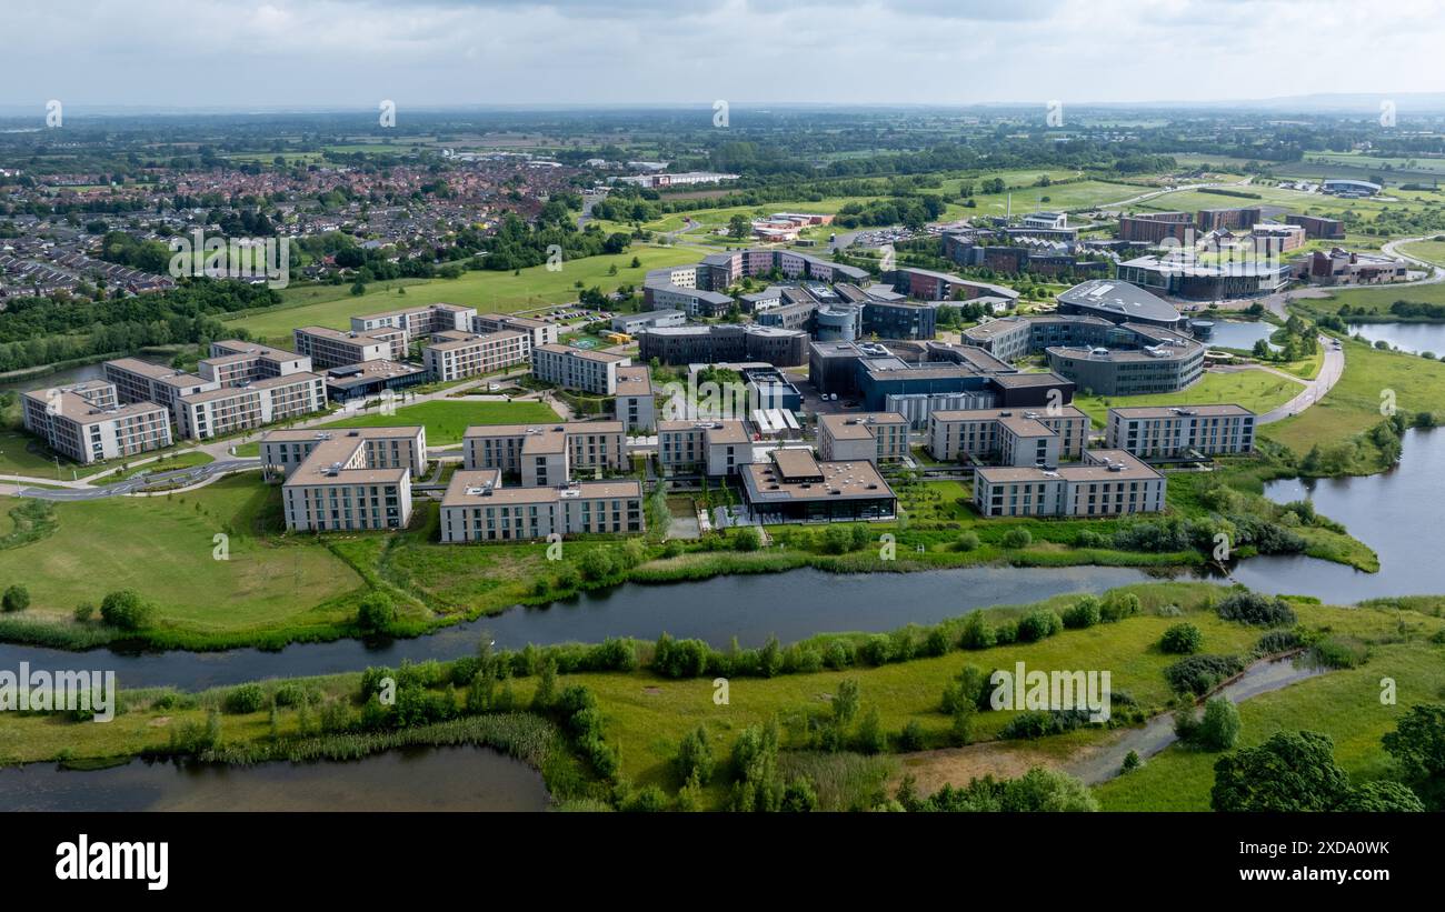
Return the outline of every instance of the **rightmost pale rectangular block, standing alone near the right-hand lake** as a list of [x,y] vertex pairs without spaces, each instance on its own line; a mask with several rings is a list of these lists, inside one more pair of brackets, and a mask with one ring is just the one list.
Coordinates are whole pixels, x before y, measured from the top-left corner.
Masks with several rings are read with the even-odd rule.
[[1254,452],[1256,414],[1243,405],[1110,408],[1104,442],[1139,459]]

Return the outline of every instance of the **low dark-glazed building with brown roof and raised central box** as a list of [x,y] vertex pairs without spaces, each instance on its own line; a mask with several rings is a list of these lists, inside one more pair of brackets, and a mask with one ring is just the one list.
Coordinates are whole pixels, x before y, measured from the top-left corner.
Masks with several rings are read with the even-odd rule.
[[897,496],[873,462],[819,462],[805,449],[775,449],[743,466],[743,496],[753,518],[772,522],[893,519]]

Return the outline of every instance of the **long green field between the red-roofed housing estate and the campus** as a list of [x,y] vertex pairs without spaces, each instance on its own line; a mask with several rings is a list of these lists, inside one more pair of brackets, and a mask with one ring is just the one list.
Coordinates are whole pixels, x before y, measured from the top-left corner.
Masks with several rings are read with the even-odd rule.
[[[633,257],[642,261],[640,267],[633,268]],[[604,291],[613,291],[621,284],[640,287],[647,270],[694,263],[699,258],[695,250],[634,245],[624,254],[566,261],[561,271],[536,266],[520,270],[516,276],[478,270],[464,273],[460,279],[422,280],[406,284],[406,294],[396,293],[402,283],[377,283],[360,296],[353,296],[350,286],[292,287],[283,293],[286,303],[279,307],[251,312],[228,322],[259,338],[289,345],[290,330],[298,326],[348,329],[355,315],[420,307],[434,302],[464,304],[480,312],[509,313],[575,302],[578,281],[584,287],[601,286]],[[617,267],[617,274],[608,276],[613,266]]]

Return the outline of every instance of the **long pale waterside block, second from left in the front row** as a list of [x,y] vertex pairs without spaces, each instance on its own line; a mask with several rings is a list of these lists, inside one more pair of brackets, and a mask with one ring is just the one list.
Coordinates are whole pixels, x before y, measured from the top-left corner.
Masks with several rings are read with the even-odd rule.
[[497,469],[464,469],[452,475],[441,505],[441,540],[447,544],[644,528],[642,485],[636,481],[504,488]]

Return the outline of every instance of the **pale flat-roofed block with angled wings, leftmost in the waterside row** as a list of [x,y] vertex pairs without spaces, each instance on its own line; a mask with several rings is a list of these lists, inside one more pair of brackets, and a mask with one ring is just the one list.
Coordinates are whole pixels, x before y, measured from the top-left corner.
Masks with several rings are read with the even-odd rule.
[[405,528],[425,453],[422,427],[273,431],[262,443],[266,465],[286,473],[286,528],[312,532]]

